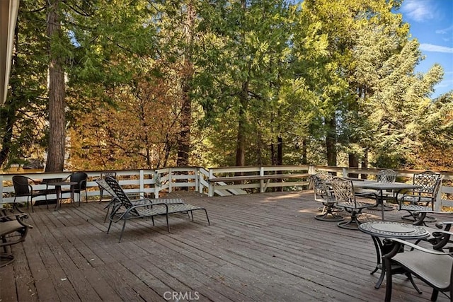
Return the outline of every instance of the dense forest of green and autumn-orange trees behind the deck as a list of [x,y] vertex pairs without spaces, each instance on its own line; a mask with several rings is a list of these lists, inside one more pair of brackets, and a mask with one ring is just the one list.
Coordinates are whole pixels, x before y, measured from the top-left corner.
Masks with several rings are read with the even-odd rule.
[[400,0],[21,0],[0,167],[453,168]]

